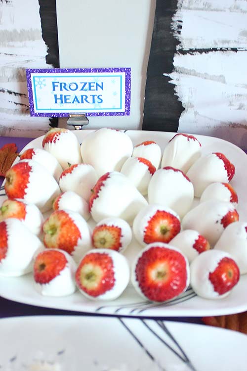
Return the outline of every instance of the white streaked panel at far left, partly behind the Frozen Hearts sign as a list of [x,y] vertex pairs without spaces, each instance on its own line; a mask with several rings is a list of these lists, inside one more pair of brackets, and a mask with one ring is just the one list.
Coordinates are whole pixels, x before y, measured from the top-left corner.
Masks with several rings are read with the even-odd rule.
[[25,68],[50,68],[38,0],[0,4],[0,135],[37,137],[48,118],[30,117]]

